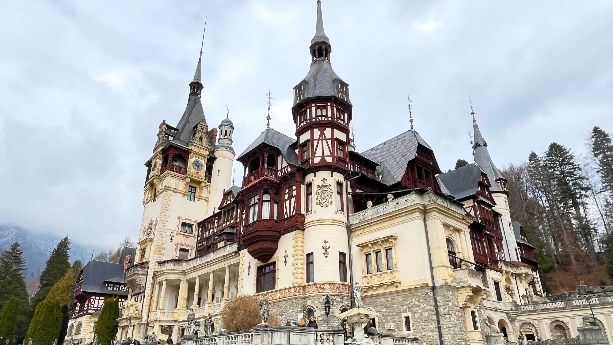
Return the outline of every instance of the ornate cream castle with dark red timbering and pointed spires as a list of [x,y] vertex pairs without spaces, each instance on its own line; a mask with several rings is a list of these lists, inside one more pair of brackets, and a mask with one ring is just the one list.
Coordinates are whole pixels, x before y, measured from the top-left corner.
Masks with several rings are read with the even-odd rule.
[[[381,314],[379,331],[427,344],[483,344],[489,327],[508,341],[576,336],[582,303],[568,320],[531,314],[549,308],[538,307],[534,247],[511,219],[507,181],[474,112],[474,164],[441,174],[412,125],[358,153],[349,85],[332,69],[319,1],[308,51],[310,69],[294,87],[294,135],[265,128],[238,157],[229,117],[208,128],[200,53],[185,112],[176,127],[161,123],[145,163],[118,338],[178,339],[190,308],[197,319],[211,316],[216,333],[238,295],[265,295],[280,320],[303,314],[332,327],[354,306],[354,285]],[[234,160],[242,187],[231,185]]]

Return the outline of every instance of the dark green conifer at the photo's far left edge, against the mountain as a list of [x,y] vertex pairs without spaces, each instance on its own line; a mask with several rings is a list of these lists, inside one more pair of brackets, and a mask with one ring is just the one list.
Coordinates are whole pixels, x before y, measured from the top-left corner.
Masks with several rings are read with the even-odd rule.
[[9,250],[0,255],[0,304],[4,305],[12,297],[28,301],[28,289],[21,272],[26,268],[26,260],[19,243],[15,242]]

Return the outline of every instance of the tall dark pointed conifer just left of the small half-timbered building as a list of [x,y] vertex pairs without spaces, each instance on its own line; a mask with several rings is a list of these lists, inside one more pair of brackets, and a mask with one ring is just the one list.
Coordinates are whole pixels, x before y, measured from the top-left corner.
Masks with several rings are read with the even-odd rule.
[[45,265],[45,270],[40,274],[40,286],[34,296],[34,306],[45,299],[51,287],[70,269],[70,262],[68,261],[69,245],[70,240],[66,236],[59,241],[58,246],[51,252],[51,256]]

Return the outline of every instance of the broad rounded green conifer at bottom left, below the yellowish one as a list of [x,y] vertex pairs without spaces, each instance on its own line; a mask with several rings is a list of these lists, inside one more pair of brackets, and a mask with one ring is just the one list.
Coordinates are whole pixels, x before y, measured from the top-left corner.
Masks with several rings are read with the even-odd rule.
[[36,306],[24,343],[31,338],[32,345],[52,344],[58,338],[61,327],[62,311],[59,302],[44,300]]

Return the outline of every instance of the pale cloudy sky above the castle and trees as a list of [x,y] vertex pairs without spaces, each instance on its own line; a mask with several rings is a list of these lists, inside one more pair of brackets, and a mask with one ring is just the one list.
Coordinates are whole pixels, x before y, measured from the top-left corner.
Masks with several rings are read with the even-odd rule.
[[[613,131],[610,1],[323,0],[357,150],[415,128],[443,171],[470,160],[468,98],[499,167]],[[242,152],[294,133],[316,2],[0,2],[0,223],[114,247],[137,238],[159,123],[185,109],[205,17],[204,109]],[[238,167],[238,165],[235,165]],[[237,168],[240,181],[242,168]]]

